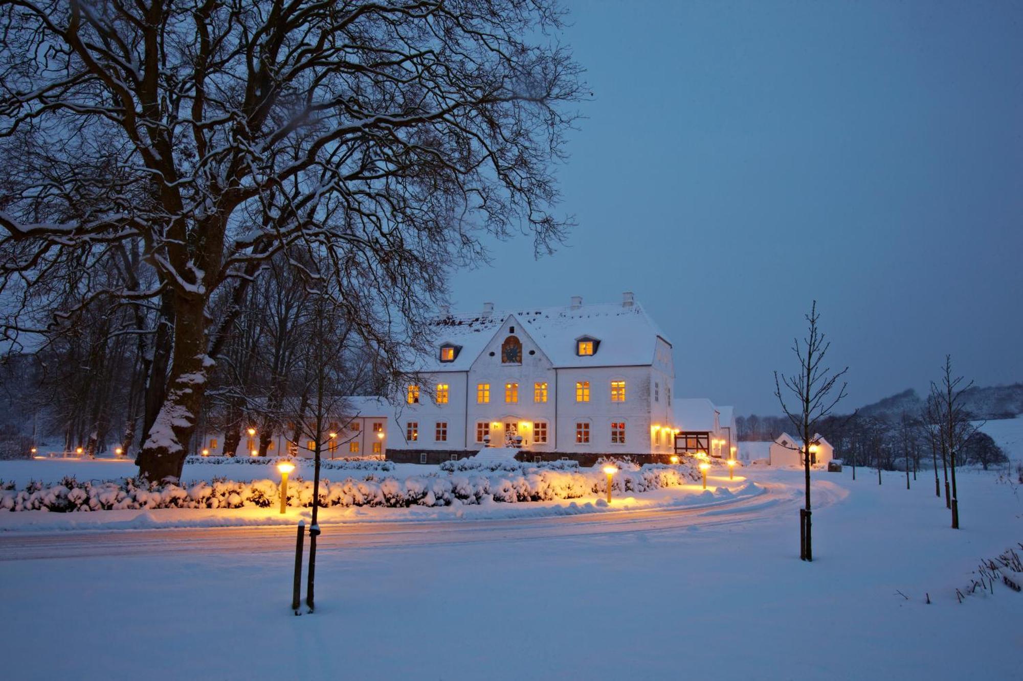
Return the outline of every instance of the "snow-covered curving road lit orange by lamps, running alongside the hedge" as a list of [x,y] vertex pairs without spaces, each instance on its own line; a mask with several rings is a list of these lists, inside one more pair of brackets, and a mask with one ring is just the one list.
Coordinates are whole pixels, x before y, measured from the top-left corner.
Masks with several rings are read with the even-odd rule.
[[[792,488],[761,484],[766,492],[735,503],[705,508],[661,508],[579,515],[483,520],[410,520],[323,525],[317,551],[392,546],[506,542],[627,532],[667,532],[694,526],[749,524],[794,511]],[[818,494],[815,507],[839,495]],[[150,555],[158,553],[268,553],[295,550],[287,526],[120,530],[59,534],[0,535],[0,560]],[[308,539],[307,539],[308,543]]]

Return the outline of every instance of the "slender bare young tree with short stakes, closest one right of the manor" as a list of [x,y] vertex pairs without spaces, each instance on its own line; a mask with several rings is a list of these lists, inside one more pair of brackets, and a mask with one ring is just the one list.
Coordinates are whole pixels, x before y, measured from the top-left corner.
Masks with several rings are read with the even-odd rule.
[[[799,359],[799,373],[786,375],[774,372],[774,396],[777,397],[793,426],[802,439],[802,459],[806,480],[806,505],[801,510],[801,515],[805,523],[804,536],[800,542],[803,560],[813,560],[813,549],[810,541],[810,447],[814,444],[813,437],[817,433],[817,424],[828,416],[835,405],[845,397],[847,383],[842,382],[834,394],[839,379],[849,370],[846,367],[838,372],[832,372],[831,368],[824,364],[825,357],[831,343],[825,339],[825,334],[817,326],[819,315],[817,314],[817,302],[814,301],[810,307],[810,313],[805,315],[807,322],[806,335],[802,343],[799,338],[793,340],[792,352]],[[782,387],[785,385],[787,394],[791,394],[792,406],[786,402]]]

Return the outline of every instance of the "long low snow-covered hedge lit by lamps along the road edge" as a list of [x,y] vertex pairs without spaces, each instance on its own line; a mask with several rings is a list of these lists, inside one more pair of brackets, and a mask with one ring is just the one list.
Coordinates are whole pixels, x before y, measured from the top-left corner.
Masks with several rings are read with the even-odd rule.
[[[644,465],[615,475],[612,489],[619,493],[647,492],[679,487],[699,480],[690,466]],[[287,487],[287,505],[311,506],[312,481],[296,479]],[[450,506],[487,501],[521,502],[576,499],[607,492],[607,476],[599,469],[551,470],[496,474],[456,473],[450,476],[414,475],[399,480],[347,478],[320,481],[322,506]],[[0,489],[0,509],[96,511],[122,508],[240,508],[274,506],[280,502],[279,485],[272,480],[251,483],[215,480],[190,487],[141,484],[135,479],[119,482],[80,483],[64,478],[57,485],[30,483],[24,490],[7,485]]]

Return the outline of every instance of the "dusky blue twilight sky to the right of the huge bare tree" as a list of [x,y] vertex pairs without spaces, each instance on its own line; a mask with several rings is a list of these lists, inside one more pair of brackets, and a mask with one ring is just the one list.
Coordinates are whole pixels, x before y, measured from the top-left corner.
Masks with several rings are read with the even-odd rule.
[[571,3],[593,99],[559,169],[579,227],[494,244],[456,310],[613,302],[675,349],[676,394],[776,413],[813,299],[846,407],[944,354],[1023,380],[1023,2]]

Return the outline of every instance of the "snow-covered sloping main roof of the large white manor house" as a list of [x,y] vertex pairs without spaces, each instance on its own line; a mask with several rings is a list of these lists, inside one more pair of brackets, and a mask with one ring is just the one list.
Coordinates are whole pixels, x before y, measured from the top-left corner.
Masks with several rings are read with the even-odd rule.
[[[653,364],[657,338],[671,345],[638,303],[450,314],[431,326],[433,352],[416,359],[418,371],[468,371],[487,344],[508,326],[521,328],[558,368]],[[576,340],[582,336],[599,340],[593,355],[576,354]],[[441,362],[440,349],[449,345],[458,353],[453,361]]]

